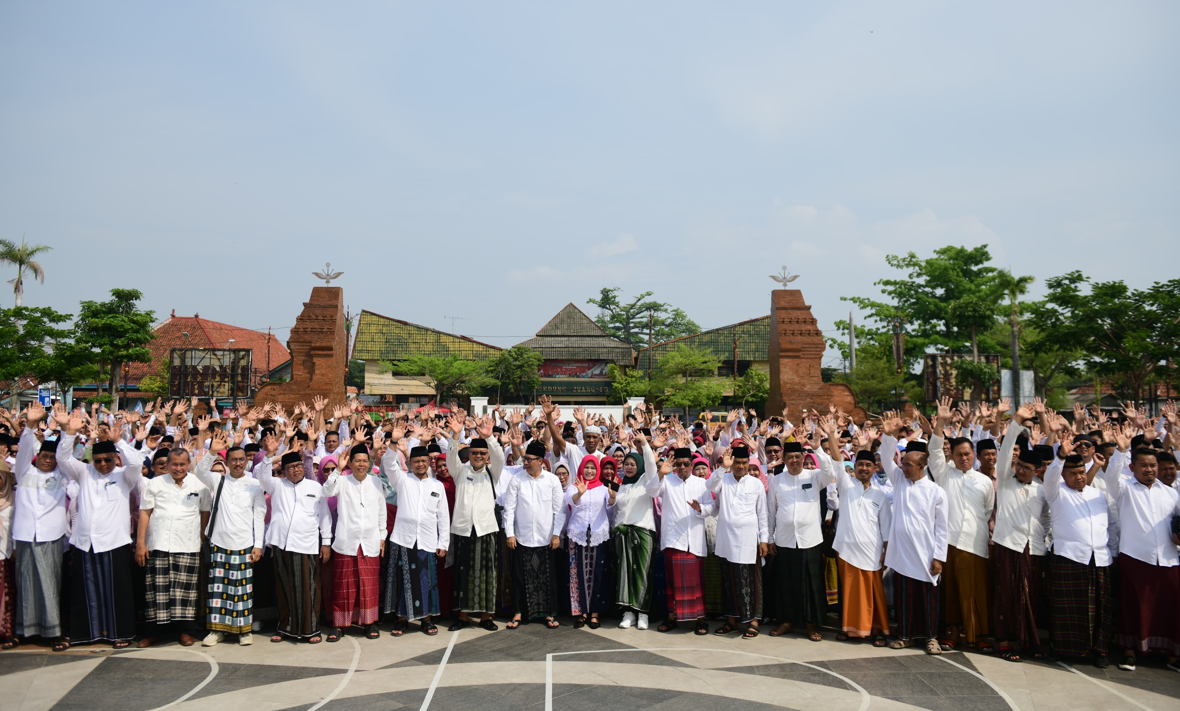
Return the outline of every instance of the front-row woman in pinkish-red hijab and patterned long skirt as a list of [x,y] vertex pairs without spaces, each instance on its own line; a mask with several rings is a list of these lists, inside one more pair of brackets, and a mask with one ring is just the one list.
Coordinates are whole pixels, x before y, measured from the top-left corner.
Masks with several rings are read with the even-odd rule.
[[[586,456],[565,491],[570,553],[570,613],[575,627],[598,628],[598,614],[607,611],[607,557],[610,551],[610,512],[615,491],[603,486],[598,460]],[[589,623],[586,615],[590,617]]]

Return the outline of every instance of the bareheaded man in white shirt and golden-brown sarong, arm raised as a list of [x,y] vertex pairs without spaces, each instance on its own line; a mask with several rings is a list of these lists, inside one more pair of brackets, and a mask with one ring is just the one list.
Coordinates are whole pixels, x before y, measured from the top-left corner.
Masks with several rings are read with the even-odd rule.
[[988,521],[996,503],[996,487],[989,476],[972,468],[975,447],[970,439],[951,440],[953,462],[946,461],[942,435],[950,422],[951,399],[944,397],[938,403],[938,419],[930,437],[930,474],[946,492],[949,547],[942,584],[949,646],[958,645],[962,628],[966,644],[989,652]]

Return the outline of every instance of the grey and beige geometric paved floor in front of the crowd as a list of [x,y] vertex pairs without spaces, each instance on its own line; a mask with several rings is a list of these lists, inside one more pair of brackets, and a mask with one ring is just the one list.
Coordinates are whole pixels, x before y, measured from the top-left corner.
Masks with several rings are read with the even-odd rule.
[[[827,634],[831,637],[831,633]],[[681,628],[441,630],[379,640],[0,653],[4,711],[1165,711],[1180,673],[929,657],[801,637]]]

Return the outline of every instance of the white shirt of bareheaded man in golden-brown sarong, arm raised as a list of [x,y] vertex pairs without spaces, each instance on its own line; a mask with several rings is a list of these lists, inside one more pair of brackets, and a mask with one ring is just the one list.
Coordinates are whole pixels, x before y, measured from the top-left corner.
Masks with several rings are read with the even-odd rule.
[[949,545],[988,557],[988,520],[996,505],[996,486],[975,469],[959,472],[943,454],[943,437],[930,437],[930,473],[946,492]]

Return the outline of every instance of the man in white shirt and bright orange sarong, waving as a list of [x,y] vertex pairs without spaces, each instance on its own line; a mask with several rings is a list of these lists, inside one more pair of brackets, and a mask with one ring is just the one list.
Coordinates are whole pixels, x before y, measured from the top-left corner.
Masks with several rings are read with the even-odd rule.
[[841,633],[835,638],[843,641],[850,637],[873,637],[873,646],[883,647],[890,630],[881,565],[893,525],[893,507],[885,492],[872,486],[877,469],[877,457],[872,452],[857,452],[850,475],[835,460],[840,450],[831,437],[828,449],[837,463],[835,483],[840,492],[840,516],[832,542],[832,548],[839,554],[837,564],[841,594]]

